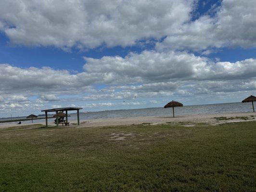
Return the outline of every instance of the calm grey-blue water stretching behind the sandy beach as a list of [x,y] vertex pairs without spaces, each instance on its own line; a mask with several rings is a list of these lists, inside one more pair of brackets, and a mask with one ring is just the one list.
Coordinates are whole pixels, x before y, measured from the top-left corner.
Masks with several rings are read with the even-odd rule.
[[[175,108],[175,115],[192,115],[192,114],[214,114],[214,113],[232,113],[232,112],[252,112],[251,103],[222,103],[222,104],[210,104],[210,105],[194,105]],[[72,112],[72,111],[71,111]],[[77,120],[77,114],[69,114],[69,120]],[[141,109],[124,109],[124,110],[109,110],[99,112],[86,112],[80,113],[80,121],[89,119],[102,119],[102,118],[127,118],[127,117],[139,117],[139,116],[168,116],[172,115],[172,108],[141,108]],[[0,120],[10,120],[11,118],[4,118]],[[13,118],[13,119],[22,119]],[[49,119],[49,122],[53,122],[54,119]],[[30,123],[31,121],[23,121],[24,123]],[[42,123],[45,120],[33,120],[35,123]],[[17,122],[13,122],[17,124]]]

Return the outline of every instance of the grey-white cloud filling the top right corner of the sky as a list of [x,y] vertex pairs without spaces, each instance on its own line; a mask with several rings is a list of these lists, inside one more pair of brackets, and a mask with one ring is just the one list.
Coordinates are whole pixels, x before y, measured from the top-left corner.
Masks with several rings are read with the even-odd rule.
[[214,17],[203,15],[166,36],[156,48],[256,47],[256,1],[223,0]]

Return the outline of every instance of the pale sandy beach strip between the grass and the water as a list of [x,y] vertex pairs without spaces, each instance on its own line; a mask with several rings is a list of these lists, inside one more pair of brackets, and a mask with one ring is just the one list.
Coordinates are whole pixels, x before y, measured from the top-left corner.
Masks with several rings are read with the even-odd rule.
[[[220,117],[225,117],[224,119]],[[256,121],[256,113],[218,113],[218,114],[197,114],[197,115],[184,115],[175,118],[170,116],[146,116],[146,117],[129,117],[129,118],[107,118],[107,119],[93,119],[93,120],[80,120],[79,127],[100,127],[100,126],[115,126],[115,125],[131,125],[131,124],[161,124],[170,122],[186,122],[186,123],[209,123],[211,125],[218,125],[227,122],[241,122],[241,121]],[[76,127],[77,121],[70,121],[70,125]],[[31,125],[38,123],[22,122],[21,125],[13,123],[1,123],[0,128],[18,127],[24,125]],[[49,126],[54,126],[53,122],[49,122]],[[60,125],[62,126],[62,125]]]

